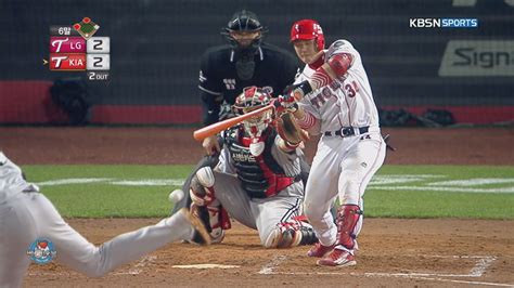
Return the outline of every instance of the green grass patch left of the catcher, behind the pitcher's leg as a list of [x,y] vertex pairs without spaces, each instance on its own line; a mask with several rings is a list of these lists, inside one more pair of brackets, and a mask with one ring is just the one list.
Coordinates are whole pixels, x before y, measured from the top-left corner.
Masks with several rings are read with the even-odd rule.
[[[24,166],[30,182],[74,178],[124,180],[184,179],[191,166]],[[105,183],[41,186],[61,214],[77,218],[164,217],[172,206],[168,194],[178,186],[120,186]]]

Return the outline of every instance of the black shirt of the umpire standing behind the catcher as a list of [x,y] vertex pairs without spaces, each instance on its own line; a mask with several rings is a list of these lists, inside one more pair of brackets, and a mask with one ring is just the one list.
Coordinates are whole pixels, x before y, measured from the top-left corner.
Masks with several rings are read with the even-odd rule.
[[201,99],[204,106],[203,123],[219,121],[223,101],[232,105],[243,88],[256,86],[273,96],[292,84],[299,65],[295,56],[278,47],[262,43],[254,57],[255,71],[249,80],[241,80],[235,70],[234,51],[230,45],[214,47],[202,56],[200,70]]

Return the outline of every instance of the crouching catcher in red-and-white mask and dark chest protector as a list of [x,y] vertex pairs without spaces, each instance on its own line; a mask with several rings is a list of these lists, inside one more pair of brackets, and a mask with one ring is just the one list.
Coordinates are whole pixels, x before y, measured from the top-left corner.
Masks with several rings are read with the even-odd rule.
[[[245,88],[233,109],[242,115],[269,105],[270,100],[260,88]],[[214,169],[203,167],[193,176],[191,211],[204,221],[213,243],[220,243],[230,228],[229,213],[257,230],[266,248],[318,240],[310,224],[300,221],[304,184],[298,145],[303,134],[288,115],[274,120],[270,109],[223,131],[219,163]]]

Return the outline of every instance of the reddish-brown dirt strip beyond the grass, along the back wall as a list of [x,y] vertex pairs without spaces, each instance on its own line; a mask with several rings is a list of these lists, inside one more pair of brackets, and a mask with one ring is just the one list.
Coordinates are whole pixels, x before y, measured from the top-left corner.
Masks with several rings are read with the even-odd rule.
[[[18,163],[193,163],[192,129],[1,128],[0,147]],[[383,129],[397,153],[386,165],[514,165],[514,129]],[[316,141],[307,145],[312,157]],[[193,160],[192,160],[193,159]]]

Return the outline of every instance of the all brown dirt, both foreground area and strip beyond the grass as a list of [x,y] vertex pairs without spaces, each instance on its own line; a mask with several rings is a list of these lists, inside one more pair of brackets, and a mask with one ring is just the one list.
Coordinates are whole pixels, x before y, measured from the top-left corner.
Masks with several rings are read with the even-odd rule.
[[[192,163],[191,129],[0,128],[0,148],[28,163]],[[386,163],[514,165],[512,129],[388,129]],[[123,148],[120,148],[123,147]],[[313,154],[313,145],[307,148]],[[70,219],[101,244],[156,219]],[[267,250],[234,224],[222,245],[172,244],[100,279],[57,264],[31,265],[25,286],[512,286],[514,221],[367,219],[358,265],[316,266],[308,248]],[[57,248],[59,249],[59,248]],[[137,248],[136,248],[137,249]],[[230,269],[180,269],[220,264]]]

